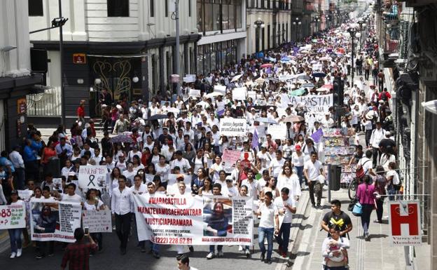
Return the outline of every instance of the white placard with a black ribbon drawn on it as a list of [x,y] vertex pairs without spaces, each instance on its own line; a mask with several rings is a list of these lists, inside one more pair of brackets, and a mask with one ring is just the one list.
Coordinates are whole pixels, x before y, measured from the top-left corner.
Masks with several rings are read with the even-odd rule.
[[79,187],[81,189],[102,189],[106,182],[106,166],[81,166],[79,168]]

